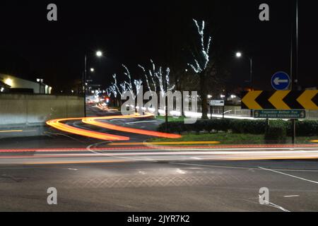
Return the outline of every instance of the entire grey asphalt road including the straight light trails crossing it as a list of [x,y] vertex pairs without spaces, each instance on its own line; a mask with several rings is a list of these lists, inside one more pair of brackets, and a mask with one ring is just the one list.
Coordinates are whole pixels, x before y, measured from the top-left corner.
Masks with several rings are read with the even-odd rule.
[[[160,122],[112,123],[151,129]],[[45,132],[0,140],[0,211],[318,210],[317,147],[160,148]],[[57,205],[47,204],[49,187],[57,189]],[[263,187],[269,205],[259,203]]]

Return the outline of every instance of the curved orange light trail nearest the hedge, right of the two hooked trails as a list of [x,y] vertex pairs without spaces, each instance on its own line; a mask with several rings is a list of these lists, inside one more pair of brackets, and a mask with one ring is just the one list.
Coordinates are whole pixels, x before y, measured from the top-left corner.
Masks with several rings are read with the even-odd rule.
[[149,131],[144,129],[134,129],[134,128],[128,128],[124,126],[117,126],[117,125],[109,124],[106,122],[96,121],[100,119],[131,119],[131,118],[148,118],[148,117],[153,117],[153,114],[145,114],[145,115],[132,114],[132,115],[121,115],[121,116],[112,116],[112,117],[88,117],[88,118],[82,119],[82,121],[83,123],[90,124],[93,126],[99,126],[105,129],[112,129],[112,130],[122,131],[127,133],[137,133],[142,135],[158,136],[163,138],[181,138],[179,134],[161,133],[157,131]]

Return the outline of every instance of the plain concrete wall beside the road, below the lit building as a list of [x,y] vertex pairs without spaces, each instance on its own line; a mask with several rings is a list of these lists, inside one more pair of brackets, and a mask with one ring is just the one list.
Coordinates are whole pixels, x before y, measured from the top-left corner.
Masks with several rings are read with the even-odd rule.
[[0,94],[0,126],[45,124],[49,119],[83,117],[83,97]]

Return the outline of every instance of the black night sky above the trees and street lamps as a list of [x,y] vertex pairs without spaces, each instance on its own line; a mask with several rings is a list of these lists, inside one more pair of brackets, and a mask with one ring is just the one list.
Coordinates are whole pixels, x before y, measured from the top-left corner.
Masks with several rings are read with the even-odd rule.
[[[140,72],[137,64],[147,65],[149,59],[167,66],[179,59],[186,67],[190,51],[187,43],[195,35],[192,18],[197,18],[207,21],[208,32],[213,36],[211,51],[221,55],[231,73],[230,81],[242,85],[249,79],[249,62],[234,57],[240,50],[253,59],[254,85],[269,90],[273,73],[290,73],[294,2],[1,1],[0,72],[40,76],[49,85],[62,89],[61,82],[67,86],[81,78],[85,52],[88,67],[96,70],[93,78],[104,85],[110,82],[112,73],[122,73],[122,63],[136,77]],[[318,21],[312,2],[299,4],[299,83],[307,87],[318,86],[313,57],[318,50]],[[47,21],[49,3],[57,4],[57,22]],[[269,22],[258,19],[261,3],[270,6]],[[105,57],[96,59],[93,52],[97,49],[102,49]],[[22,69],[17,70],[20,65]]]

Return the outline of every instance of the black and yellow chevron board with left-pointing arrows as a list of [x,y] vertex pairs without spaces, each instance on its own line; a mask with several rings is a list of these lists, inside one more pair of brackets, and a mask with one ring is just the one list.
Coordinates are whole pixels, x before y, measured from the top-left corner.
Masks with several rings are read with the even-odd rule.
[[242,109],[318,110],[318,90],[244,92]]

